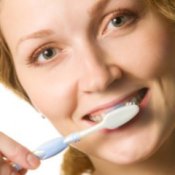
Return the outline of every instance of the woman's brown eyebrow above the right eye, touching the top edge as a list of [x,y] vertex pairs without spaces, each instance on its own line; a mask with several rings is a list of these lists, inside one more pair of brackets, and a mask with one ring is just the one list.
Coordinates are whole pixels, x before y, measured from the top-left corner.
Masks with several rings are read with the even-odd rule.
[[89,10],[89,14],[94,16],[96,13],[100,12],[102,8],[109,2],[110,0],[98,0],[98,2]]

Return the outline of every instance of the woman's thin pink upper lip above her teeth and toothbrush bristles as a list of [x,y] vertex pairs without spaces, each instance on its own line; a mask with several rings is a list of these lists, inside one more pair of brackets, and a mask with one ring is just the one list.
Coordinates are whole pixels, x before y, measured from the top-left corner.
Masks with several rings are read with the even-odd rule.
[[84,116],[92,115],[93,113],[97,113],[97,112],[100,112],[100,111],[105,111],[105,110],[108,110],[108,109],[110,109],[110,108],[112,108],[114,106],[120,105],[123,102],[126,102],[126,101],[130,100],[135,94],[137,94],[139,92],[139,90],[141,90],[141,89],[138,89],[138,90],[136,90],[134,92],[130,92],[127,95],[125,95],[124,97],[122,97],[122,98],[120,98],[118,100],[113,100],[111,102],[102,104],[102,105],[100,105],[100,106],[90,110]]

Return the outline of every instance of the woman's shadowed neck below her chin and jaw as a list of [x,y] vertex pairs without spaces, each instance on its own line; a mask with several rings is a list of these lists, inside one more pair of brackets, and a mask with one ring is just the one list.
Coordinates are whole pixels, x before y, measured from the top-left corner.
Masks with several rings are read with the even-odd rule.
[[175,134],[148,159],[129,165],[118,165],[91,158],[95,172],[93,175],[174,175],[175,174]]

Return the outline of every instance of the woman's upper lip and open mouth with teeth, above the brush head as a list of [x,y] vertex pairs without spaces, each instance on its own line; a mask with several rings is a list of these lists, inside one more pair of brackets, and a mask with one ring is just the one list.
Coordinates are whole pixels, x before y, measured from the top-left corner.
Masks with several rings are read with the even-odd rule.
[[133,94],[124,98],[123,100],[121,100],[118,103],[110,104],[109,106],[107,105],[104,108],[99,108],[99,109],[85,115],[83,117],[83,120],[87,120],[87,121],[93,122],[93,123],[99,123],[105,117],[104,113],[112,110],[113,108],[118,108],[121,105],[127,105],[130,103],[132,103],[132,104],[134,103],[134,104],[139,105],[142,102],[142,100],[144,99],[147,92],[148,92],[148,88],[139,89],[137,92],[134,92]]

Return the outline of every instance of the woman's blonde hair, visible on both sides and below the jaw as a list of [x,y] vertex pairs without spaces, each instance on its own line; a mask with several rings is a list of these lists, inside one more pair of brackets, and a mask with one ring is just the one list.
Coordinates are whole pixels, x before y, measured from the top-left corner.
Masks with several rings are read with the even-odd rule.
[[[169,21],[175,23],[175,1],[174,0],[145,0],[150,8],[157,10]],[[30,103],[25,90],[21,86],[12,55],[7,43],[0,31],[0,82],[12,89],[16,94]],[[83,172],[93,172],[94,167],[88,156],[84,153],[70,147],[64,156],[62,164],[64,175],[81,175]]]

